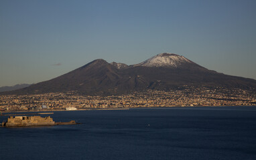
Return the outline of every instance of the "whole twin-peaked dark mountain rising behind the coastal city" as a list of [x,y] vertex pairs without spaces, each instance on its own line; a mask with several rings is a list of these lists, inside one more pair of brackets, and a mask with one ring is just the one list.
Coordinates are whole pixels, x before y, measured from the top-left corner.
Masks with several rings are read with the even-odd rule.
[[97,59],[60,77],[9,93],[78,91],[87,95],[115,95],[147,89],[169,90],[182,85],[246,89],[256,87],[256,81],[210,71],[183,56],[162,53],[130,66]]

